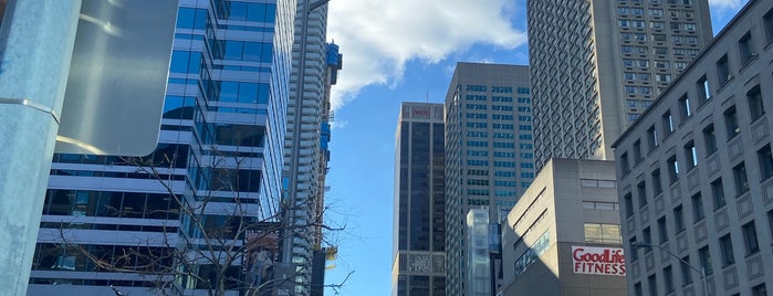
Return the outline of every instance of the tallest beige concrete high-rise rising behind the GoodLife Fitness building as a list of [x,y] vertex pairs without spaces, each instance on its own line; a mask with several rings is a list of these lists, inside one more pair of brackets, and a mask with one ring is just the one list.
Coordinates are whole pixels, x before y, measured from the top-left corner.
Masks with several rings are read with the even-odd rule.
[[529,0],[537,170],[609,148],[711,39],[708,0]]

